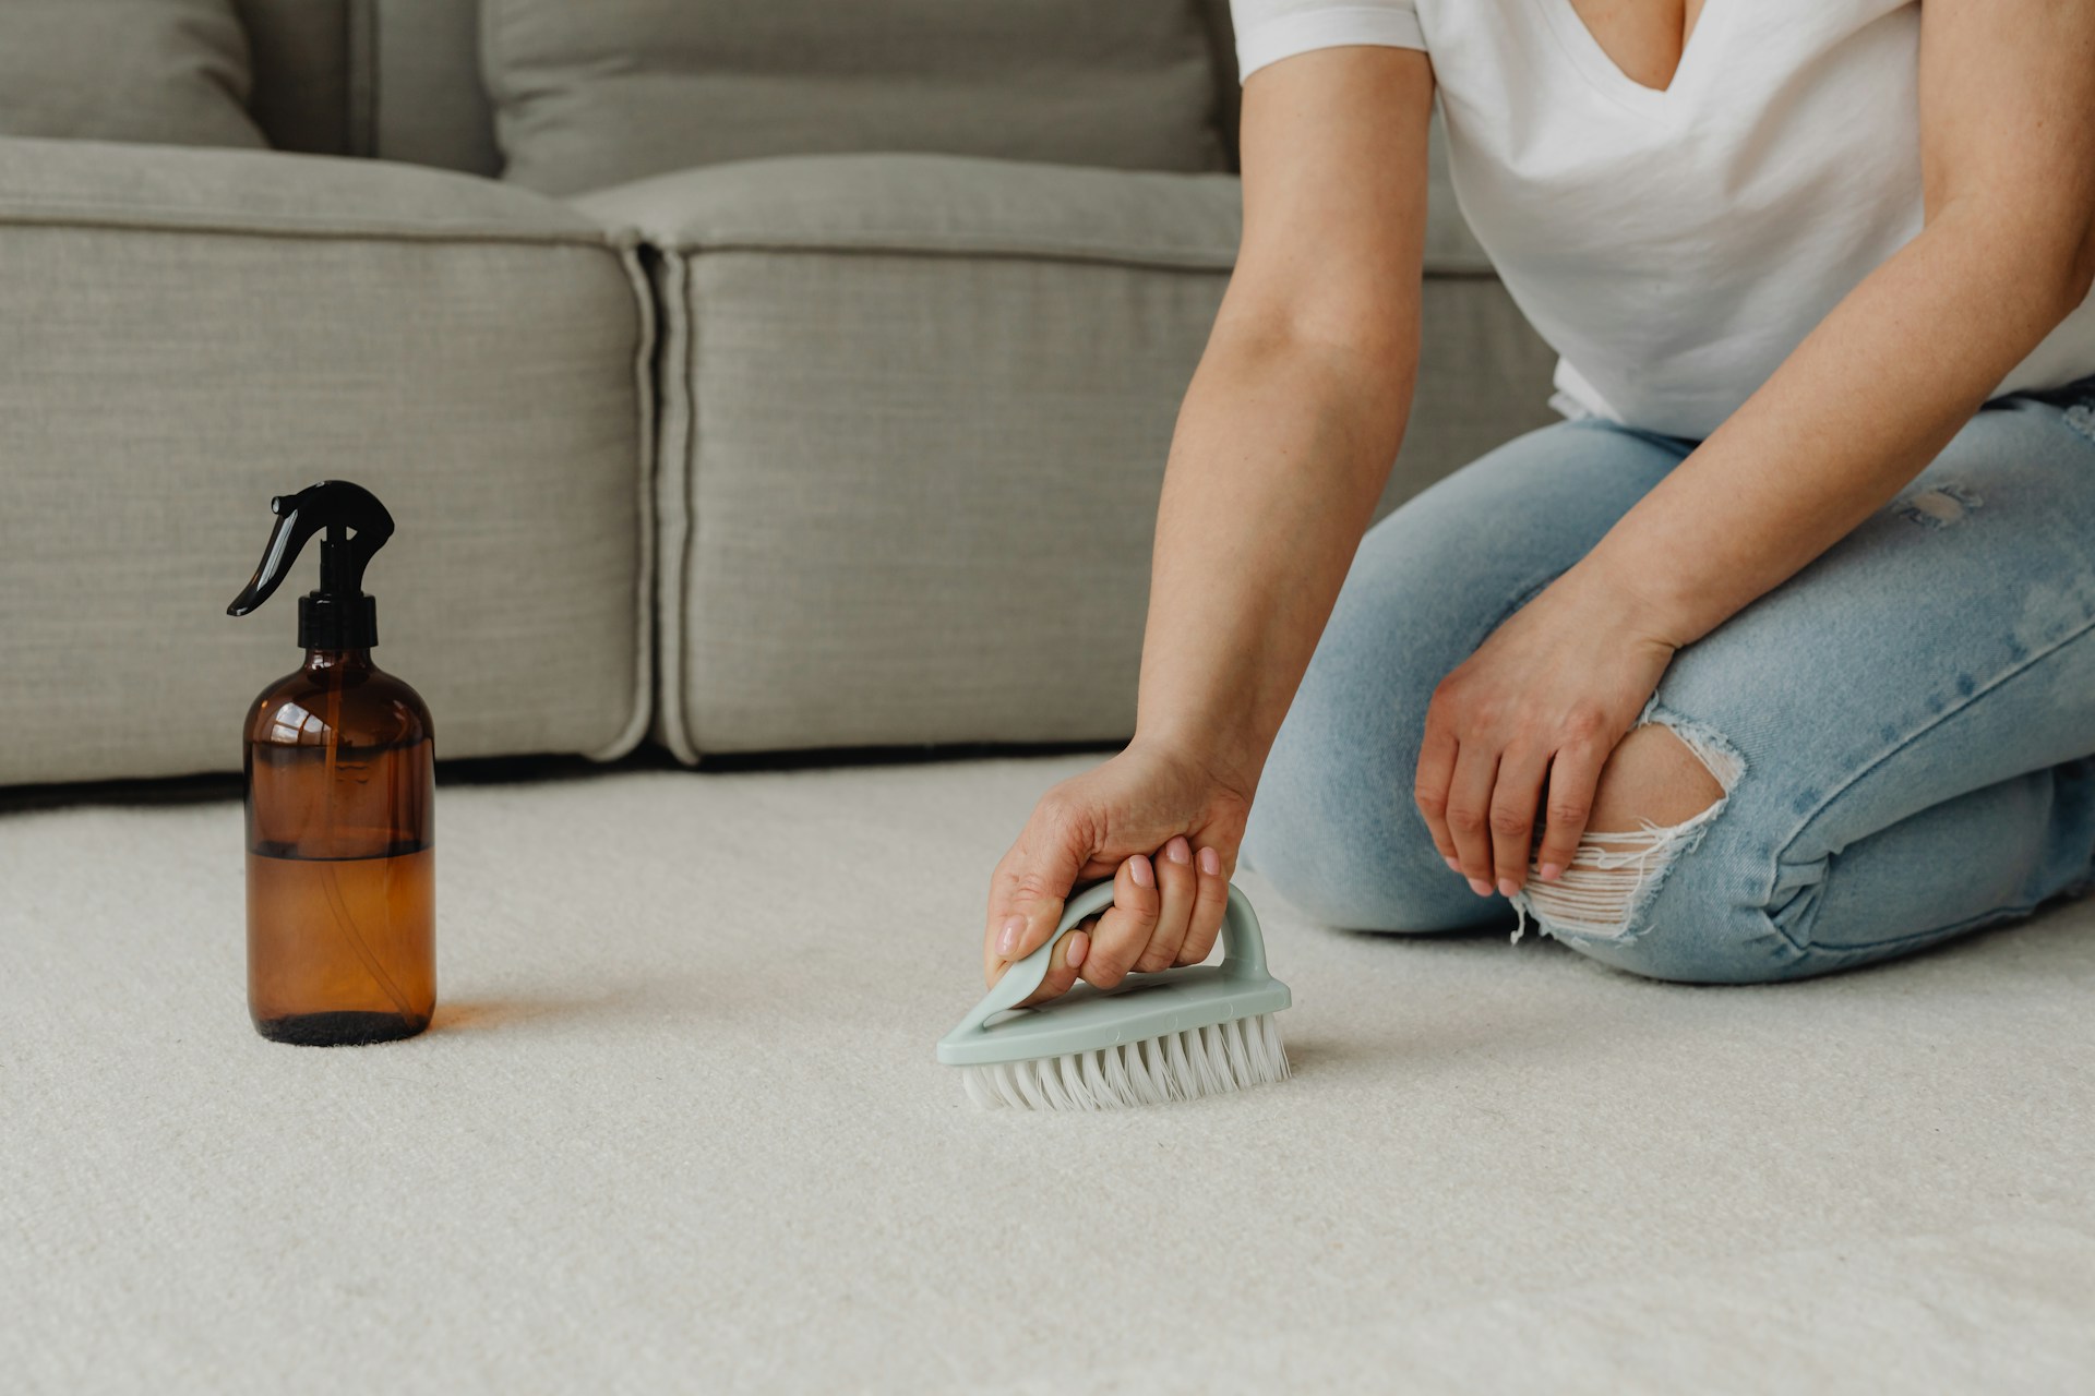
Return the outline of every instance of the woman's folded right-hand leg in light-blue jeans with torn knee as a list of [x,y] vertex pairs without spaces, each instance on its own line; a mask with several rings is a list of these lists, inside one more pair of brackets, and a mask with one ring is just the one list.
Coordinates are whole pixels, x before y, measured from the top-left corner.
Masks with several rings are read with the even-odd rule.
[[[2080,423],[2080,425],[2076,425]],[[2080,892],[2095,864],[2095,437],[2005,400],[1898,500],[1668,670],[1649,720],[1728,787],[1603,933],[1670,980],[1886,959]]]

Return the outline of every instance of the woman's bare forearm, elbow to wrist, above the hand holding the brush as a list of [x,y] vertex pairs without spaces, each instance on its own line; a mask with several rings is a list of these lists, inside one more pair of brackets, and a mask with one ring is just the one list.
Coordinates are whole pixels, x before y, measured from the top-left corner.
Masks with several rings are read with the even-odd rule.
[[1165,469],[1138,741],[1257,783],[1395,460],[1410,341],[1372,356],[1217,335]]

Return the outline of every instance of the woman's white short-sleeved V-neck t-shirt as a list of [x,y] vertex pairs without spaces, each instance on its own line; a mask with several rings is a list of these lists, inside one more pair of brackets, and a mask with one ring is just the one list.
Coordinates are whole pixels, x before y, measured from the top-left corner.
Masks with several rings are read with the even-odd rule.
[[[1919,0],[1705,0],[1663,92],[1571,0],[1232,8],[1244,77],[1341,44],[1431,54],[1456,201],[1571,416],[1710,435],[1921,230]],[[1997,393],[2091,373],[2095,297]]]

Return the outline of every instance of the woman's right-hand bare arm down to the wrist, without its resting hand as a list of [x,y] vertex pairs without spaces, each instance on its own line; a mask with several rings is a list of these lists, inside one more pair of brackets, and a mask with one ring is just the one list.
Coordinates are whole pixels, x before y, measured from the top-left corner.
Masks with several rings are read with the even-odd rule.
[[2089,295],[2095,4],[1921,6],[1927,222],[1592,550],[1674,645],[1825,553]]

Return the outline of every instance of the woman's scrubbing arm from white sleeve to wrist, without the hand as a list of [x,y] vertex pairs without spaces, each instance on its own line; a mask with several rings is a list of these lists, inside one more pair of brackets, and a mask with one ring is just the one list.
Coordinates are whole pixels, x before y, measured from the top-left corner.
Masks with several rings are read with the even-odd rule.
[[1404,440],[1431,109],[1410,48],[1244,84],[1244,241],[1165,469],[1135,741],[1247,795]]

